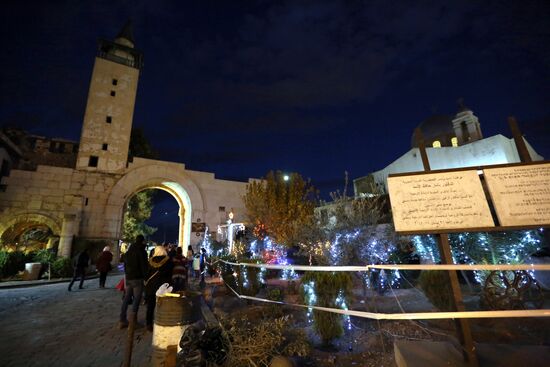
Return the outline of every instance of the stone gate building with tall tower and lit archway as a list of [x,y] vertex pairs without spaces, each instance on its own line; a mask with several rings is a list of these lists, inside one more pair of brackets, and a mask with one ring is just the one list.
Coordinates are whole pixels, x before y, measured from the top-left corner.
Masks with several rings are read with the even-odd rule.
[[[3,245],[29,229],[47,228],[48,246],[57,244],[62,256],[71,256],[76,238],[117,249],[125,203],[150,188],[167,191],[178,202],[181,246],[201,240],[191,232],[192,223],[213,230],[231,210],[242,220],[246,182],[219,180],[182,163],[128,159],[142,60],[129,25],[114,42],[100,40],[80,142],[34,137],[30,152],[36,154],[27,159],[16,146],[2,144],[11,168],[0,192]],[[39,159],[48,153],[48,159]]]

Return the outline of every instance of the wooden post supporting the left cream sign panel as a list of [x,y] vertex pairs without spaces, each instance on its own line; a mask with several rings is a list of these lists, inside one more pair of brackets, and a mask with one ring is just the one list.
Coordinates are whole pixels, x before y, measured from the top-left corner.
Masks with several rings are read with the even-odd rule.
[[[428,160],[428,154],[426,152],[426,146],[424,145],[424,137],[420,128],[416,128],[414,131],[416,143],[420,150],[420,157],[422,158],[422,165],[426,172],[430,171],[430,161]],[[449,246],[449,235],[442,233],[437,236],[439,247],[439,254],[443,264],[453,264],[453,257],[451,255],[451,247]],[[462,291],[460,290],[460,284],[458,283],[458,276],[456,271],[447,271],[449,274],[449,282],[451,284],[451,290],[454,300],[453,311],[464,311],[464,302],[462,300]],[[456,332],[458,339],[463,348],[464,360],[472,367],[479,366],[477,355],[475,353],[474,340],[472,338],[472,331],[470,329],[470,323],[467,319],[455,319]]]

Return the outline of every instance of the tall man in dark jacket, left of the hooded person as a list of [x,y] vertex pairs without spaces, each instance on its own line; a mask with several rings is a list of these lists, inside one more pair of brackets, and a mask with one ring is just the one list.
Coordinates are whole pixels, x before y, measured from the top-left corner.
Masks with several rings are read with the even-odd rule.
[[[136,237],[136,241],[124,256],[124,273],[126,275],[126,287],[122,307],[120,309],[119,329],[128,327],[126,311],[132,303],[132,313],[137,321],[137,313],[141,294],[143,293],[143,280],[147,275],[147,252],[145,251],[145,238],[142,235]],[[132,300],[133,298],[133,300]]]

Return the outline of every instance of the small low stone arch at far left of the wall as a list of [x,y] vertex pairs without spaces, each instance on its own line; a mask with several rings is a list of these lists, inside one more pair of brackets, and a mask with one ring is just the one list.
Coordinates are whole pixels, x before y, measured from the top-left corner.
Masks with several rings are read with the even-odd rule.
[[54,239],[59,238],[61,234],[61,225],[56,218],[40,212],[20,212],[6,221],[0,221],[0,239],[2,245],[15,245],[17,238],[29,230],[43,232],[47,239],[42,239],[46,243],[46,248],[52,247]]

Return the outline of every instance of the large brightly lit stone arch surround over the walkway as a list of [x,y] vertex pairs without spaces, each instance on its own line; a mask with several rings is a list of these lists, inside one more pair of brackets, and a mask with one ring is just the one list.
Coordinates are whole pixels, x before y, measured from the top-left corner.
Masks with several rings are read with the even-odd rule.
[[106,208],[109,232],[121,237],[124,204],[139,191],[151,188],[170,193],[180,207],[178,240],[184,248],[190,244],[193,212],[204,211],[204,201],[197,185],[181,164],[159,162],[130,170],[113,187]]

